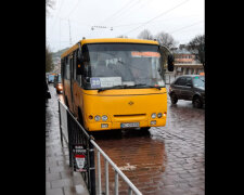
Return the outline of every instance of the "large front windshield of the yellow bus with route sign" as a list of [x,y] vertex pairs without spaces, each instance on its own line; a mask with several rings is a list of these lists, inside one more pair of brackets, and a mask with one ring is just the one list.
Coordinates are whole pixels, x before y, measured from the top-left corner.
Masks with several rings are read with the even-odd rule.
[[87,89],[165,87],[158,46],[90,43],[82,52]]

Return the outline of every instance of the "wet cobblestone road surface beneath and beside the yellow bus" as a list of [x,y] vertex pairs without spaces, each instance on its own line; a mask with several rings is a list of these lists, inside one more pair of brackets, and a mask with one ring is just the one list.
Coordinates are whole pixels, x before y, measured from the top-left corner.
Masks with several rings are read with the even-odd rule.
[[[49,88],[55,94],[52,84]],[[52,98],[63,99],[62,94]],[[93,134],[95,142],[142,194],[204,194],[205,109],[193,108],[189,101],[171,105],[168,99],[167,113],[165,127],[99,132]],[[103,160],[101,165],[104,170]],[[112,169],[110,181],[114,181]],[[124,187],[119,180],[119,190]]]

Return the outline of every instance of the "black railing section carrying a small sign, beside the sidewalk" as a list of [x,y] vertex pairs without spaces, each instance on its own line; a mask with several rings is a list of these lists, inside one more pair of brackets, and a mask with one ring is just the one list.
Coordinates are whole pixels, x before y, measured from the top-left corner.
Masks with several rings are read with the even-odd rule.
[[91,195],[95,194],[94,146],[86,130],[76,120],[68,108],[59,100],[61,143],[68,145],[69,167],[81,172]]

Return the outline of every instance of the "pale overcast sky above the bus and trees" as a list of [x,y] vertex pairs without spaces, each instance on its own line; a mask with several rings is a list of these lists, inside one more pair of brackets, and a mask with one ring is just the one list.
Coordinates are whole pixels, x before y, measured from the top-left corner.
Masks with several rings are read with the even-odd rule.
[[[82,37],[114,38],[124,35],[138,38],[144,29],[153,35],[168,32],[179,44],[205,34],[204,0],[52,1],[53,9],[49,9],[46,16],[46,39],[53,52],[75,44]],[[92,30],[92,26],[100,28]]]

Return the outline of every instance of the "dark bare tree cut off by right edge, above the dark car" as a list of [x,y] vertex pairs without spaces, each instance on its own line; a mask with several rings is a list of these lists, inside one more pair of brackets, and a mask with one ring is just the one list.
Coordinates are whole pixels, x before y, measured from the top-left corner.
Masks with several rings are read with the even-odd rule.
[[187,47],[191,53],[195,54],[196,58],[203,64],[205,69],[205,35],[195,36]]

